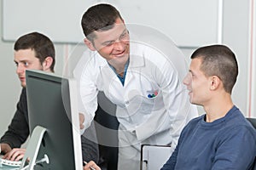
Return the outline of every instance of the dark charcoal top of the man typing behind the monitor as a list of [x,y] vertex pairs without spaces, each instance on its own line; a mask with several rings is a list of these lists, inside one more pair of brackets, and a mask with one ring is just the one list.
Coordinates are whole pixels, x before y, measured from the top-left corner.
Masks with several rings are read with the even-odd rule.
[[[26,88],[20,94],[20,100],[16,106],[15,116],[9,124],[8,130],[3,134],[0,143],[9,144],[11,148],[20,148],[29,136],[28,112],[26,101]],[[90,129],[95,130],[94,127]],[[84,161],[98,162],[98,145],[81,135],[82,153]]]

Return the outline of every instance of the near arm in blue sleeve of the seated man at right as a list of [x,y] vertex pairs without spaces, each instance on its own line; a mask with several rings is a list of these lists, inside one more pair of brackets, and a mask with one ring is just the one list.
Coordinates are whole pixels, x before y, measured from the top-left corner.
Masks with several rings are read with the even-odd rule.
[[248,169],[252,166],[256,139],[254,131],[247,127],[237,126],[224,133],[220,138],[212,169]]

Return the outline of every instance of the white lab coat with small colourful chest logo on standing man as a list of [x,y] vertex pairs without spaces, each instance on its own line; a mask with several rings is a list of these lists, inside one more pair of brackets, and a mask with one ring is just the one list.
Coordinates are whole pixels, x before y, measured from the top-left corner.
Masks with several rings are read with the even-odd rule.
[[[106,59],[90,50],[84,52],[74,75],[79,82],[85,127],[95,116],[97,93],[103,91],[117,105],[119,147],[134,149],[119,152],[129,153],[132,160],[132,153],[139,156],[141,144],[172,144],[174,149],[183,127],[197,116],[197,111],[195,105],[190,105],[182,83],[188,71],[185,59],[174,44],[167,53],[139,42],[131,42],[130,46],[124,86]],[[154,93],[155,97],[148,98]],[[139,159],[137,156],[135,159]]]

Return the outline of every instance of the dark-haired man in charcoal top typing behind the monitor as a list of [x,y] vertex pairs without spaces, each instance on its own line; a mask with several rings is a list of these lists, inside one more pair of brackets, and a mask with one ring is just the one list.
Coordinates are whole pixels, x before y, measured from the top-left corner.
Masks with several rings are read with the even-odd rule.
[[[8,130],[0,139],[1,153],[4,159],[18,161],[25,154],[21,149],[29,136],[29,124],[26,102],[26,69],[54,72],[55,48],[49,37],[38,32],[28,33],[15,42],[16,73],[20,79],[22,91],[17,110]],[[94,127],[92,127],[94,131]],[[86,133],[86,132],[85,132]],[[82,153],[84,161],[98,161],[98,145],[81,135]]]

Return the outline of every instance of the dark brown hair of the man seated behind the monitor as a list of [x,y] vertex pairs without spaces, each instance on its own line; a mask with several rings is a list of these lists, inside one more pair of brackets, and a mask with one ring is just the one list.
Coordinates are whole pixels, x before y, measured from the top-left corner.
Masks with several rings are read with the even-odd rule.
[[49,37],[38,32],[31,32],[17,39],[14,46],[15,51],[20,49],[32,49],[35,51],[36,58],[43,64],[44,59],[51,57],[53,59],[50,65],[50,71],[54,72],[55,67],[55,47]]

